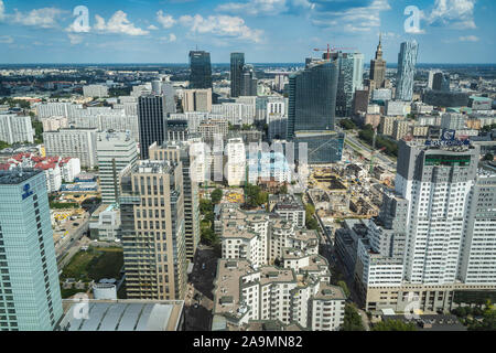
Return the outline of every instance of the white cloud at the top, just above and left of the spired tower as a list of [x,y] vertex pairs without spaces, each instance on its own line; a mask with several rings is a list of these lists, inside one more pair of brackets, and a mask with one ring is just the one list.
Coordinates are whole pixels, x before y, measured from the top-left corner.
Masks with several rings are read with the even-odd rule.
[[380,26],[380,12],[390,9],[388,0],[374,0],[367,7],[319,12],[312,22],[320,26],[342,29],[345,32],[369,32]]

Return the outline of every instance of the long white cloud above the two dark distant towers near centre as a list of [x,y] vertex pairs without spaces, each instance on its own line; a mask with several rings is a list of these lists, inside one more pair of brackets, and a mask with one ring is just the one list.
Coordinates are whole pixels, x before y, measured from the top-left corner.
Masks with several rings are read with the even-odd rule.
[[245,20],[231,15],[209,15],[203,18],[200,14],[183,15],[180,23],[190,28],[190,31],[198,34],[215,34],[217,36],[233,38],[238,40],[259,43],[262,41],[263,31],[250,29],[245,24]]

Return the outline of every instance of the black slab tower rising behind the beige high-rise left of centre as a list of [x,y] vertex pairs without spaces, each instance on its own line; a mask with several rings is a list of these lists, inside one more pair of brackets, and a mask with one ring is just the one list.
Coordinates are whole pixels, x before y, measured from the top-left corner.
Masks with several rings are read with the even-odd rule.
[[141,159],[148,159],[148,149],[153,142],[166,139],[165,97],[159,95],[141,96],[138,100],[138,122],[140,129]]

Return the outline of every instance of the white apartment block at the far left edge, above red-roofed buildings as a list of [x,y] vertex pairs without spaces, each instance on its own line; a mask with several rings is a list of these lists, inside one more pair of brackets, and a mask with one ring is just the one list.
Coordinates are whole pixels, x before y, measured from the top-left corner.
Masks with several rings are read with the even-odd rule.
[[9,145],[15,142],[34,142],[34,130],[31,117],[15,114],[0,115],[0,141]]

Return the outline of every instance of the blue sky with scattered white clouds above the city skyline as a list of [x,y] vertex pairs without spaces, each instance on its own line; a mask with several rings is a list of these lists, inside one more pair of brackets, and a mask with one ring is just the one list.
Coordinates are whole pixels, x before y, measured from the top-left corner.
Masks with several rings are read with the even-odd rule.
[[[88,9],[89,23],[73,11]],[[405,30],[408,6],[420,26]],[[196,46],[227,63],[303,62],[326,44],[368,61],[420,44],[421,63],[495,63],[494,0],[0,0],[0,63],[185,63]],[[83,31],[82,31],[83,30]]]

